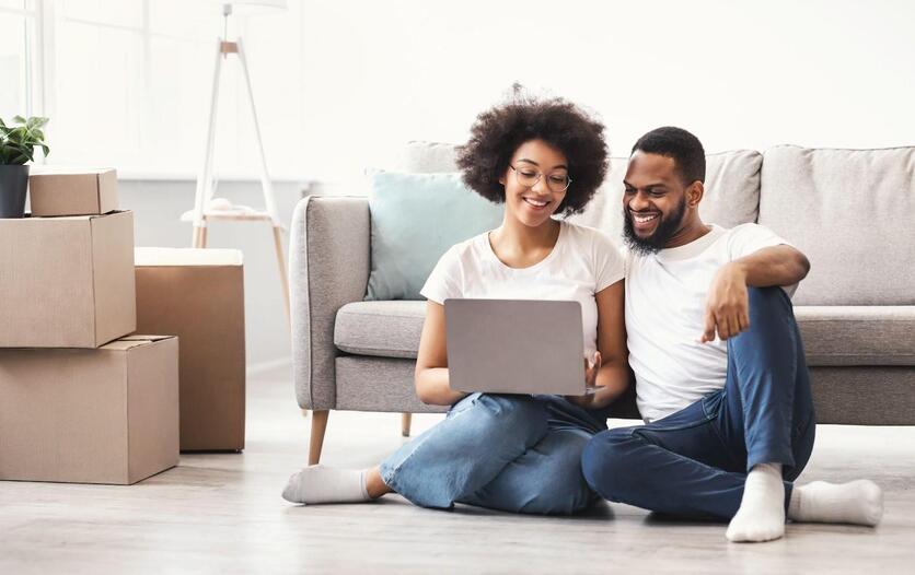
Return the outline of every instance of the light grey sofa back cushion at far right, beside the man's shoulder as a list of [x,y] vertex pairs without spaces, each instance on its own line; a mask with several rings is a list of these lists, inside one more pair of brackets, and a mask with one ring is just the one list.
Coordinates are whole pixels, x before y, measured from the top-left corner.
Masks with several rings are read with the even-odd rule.
[[810,258],[795,304],[915,304],[915,148],[767,150],[760,223]]

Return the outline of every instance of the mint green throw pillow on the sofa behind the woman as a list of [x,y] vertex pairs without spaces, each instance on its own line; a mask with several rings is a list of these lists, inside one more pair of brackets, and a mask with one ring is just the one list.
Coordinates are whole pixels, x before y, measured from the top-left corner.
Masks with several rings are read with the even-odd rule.
[[471,191],[460,174],[371,177],[372,271],[366,300],[421,300],[448,248],[502,223],[502,206]]

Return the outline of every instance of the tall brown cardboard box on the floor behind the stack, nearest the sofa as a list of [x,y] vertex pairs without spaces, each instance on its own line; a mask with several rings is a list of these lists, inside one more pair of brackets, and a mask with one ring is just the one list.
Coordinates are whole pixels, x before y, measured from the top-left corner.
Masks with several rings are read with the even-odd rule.
[[137,329],[181,338],[181,448],[245,443],[244,271],[235,249],[137,248]]

